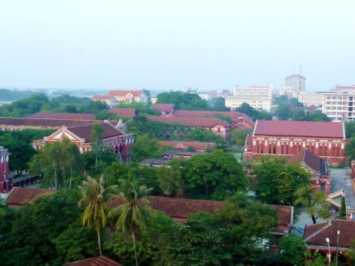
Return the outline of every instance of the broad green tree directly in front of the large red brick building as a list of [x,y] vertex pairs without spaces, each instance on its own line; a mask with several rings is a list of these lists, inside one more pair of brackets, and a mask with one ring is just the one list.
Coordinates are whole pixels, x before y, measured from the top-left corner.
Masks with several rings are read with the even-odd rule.
[[268,204],[294,205],[295,192],[309,182],[310,174],[301,165],[289,165],[278,156],[263,156],[255,160],[253,174],[256,196]]

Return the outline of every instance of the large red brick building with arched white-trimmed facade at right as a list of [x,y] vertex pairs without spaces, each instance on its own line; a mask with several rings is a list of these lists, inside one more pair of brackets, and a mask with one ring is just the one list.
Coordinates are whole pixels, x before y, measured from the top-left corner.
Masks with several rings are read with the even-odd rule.
[[307,148],[330,164],[344,164],[344,123],[258,120],[246,138],[244,157],[262,155],[291,157]]

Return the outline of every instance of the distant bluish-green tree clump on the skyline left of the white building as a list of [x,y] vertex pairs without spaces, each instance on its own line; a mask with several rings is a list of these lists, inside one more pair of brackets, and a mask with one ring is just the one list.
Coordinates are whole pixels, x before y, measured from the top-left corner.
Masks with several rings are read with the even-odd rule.
[[157,104],[174,104],[176,109],[182,110],[208,110],[207,101],[198,94],[187,92],[162,92],[157,96]]

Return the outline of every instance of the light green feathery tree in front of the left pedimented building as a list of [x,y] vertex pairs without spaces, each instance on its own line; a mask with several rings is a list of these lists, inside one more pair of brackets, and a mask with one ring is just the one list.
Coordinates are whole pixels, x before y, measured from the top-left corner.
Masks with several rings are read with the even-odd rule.
[[72,187],[72,177],[84,170],[84,160],[77,145],[69,138],[46,143],[29,163],[32,173],[43,174],[43,187]]

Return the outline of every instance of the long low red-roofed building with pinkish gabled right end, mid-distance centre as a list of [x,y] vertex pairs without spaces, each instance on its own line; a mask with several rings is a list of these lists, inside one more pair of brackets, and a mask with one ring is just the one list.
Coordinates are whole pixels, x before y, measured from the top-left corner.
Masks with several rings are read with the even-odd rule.
[[190,126],[192,128],[204,128],[212,131],[222,138],[228,138],[231,124],[219,118],[197,118],[197,117],[176,117],[176,116],[147,116],[148,119],[163,123],[175,123]]

